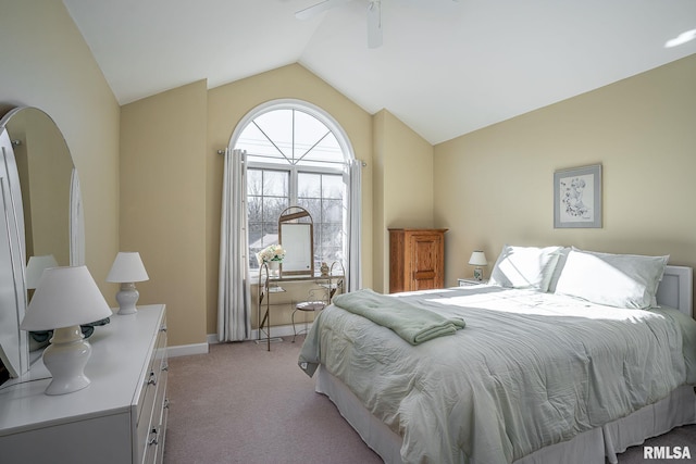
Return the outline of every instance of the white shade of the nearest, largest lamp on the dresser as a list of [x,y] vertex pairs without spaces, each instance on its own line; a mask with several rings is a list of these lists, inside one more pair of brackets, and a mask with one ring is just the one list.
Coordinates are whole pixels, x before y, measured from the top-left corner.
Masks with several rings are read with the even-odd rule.
[[86,266],[44,271],[20,325],[23,330],[53,330],[112,316]]

